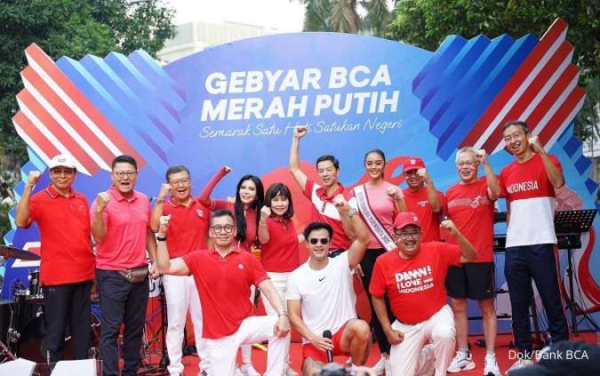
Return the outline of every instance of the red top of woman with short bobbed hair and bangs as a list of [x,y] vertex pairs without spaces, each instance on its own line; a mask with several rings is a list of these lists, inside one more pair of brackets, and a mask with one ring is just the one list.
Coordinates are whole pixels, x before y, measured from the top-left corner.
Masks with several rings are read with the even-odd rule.
[[260,244],[260,263],[269,272],[285,273],[300,267],[298,235],[292,220],[268,218],[268,242]]

